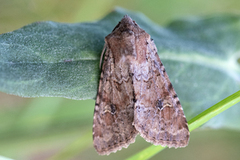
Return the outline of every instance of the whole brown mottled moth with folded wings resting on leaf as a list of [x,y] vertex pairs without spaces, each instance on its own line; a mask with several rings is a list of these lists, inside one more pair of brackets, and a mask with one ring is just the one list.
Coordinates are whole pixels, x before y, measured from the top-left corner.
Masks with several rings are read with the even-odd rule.
[[124,16],[105,38],[104,53],[93,120],[97,152],[127,148],[138,133],[154,145],[187,146],[188,124],[150,35]]

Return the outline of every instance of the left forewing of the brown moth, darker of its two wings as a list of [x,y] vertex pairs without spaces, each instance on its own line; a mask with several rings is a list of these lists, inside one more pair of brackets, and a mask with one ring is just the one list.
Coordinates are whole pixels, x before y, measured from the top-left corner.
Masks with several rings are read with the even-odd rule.
[[[106,52],[96,98],[93,119],[93,143],[100,155],[127,148],[138,134],[133,126],[134,95],[132,78],[114,62],[115,57],[105,39]],[[103,50],[104,52],[104,50]]]

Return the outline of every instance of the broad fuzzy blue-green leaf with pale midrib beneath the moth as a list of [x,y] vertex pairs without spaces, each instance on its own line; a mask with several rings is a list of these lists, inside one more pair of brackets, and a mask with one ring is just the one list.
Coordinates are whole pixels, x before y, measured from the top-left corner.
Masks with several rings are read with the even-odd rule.
[[[239,16],[178,20],[162,28],[123,9],[97,22],[37,22],[0,35],[0,90],[23,97],[94,98],[104,37],[125,14],[154,39],[188,120],[239,90]],[[240,129],[239,114],[232,107],[205,126]]]

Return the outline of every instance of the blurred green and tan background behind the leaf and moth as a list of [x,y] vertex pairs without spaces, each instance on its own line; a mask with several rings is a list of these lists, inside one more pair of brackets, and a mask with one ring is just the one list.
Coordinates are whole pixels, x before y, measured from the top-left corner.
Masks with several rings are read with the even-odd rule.
[[[99,20],[115,6],[142,12],[163,26],[178,18],[240,13],[238,0],[0,0],[0,33],[36,21]],[[98,156],[92,145],[94,102],[0,93],[0,155],[16,160],[117,160],[150,145],[138,137],[128,149]],[[165,149],[152,159],[240,159],[239,150],[239,131],[196,130],[188,147]]]

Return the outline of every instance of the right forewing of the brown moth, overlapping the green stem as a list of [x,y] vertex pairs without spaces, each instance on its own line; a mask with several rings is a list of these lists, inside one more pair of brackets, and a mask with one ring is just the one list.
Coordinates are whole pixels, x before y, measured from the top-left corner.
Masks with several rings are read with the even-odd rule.
[[[146,33],[147,34],[147,33]],[[134,68],[136,103],[134,126],[154,145],[185,147],[189,141],[188,124],[176,92],[147,34],[146,61]],[[140,69],[141,68],[141,69]]]

